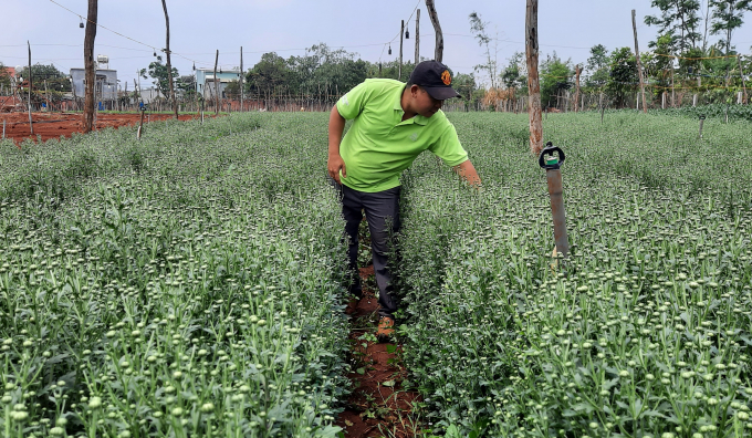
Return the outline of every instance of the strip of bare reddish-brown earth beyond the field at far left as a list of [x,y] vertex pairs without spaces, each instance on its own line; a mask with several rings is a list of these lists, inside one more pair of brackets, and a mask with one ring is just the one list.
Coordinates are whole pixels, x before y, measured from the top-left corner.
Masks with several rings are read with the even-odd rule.
[[[152,122],[165,121],[173,118],[171,114],[146,114],[144,115],[144,124],[149,119]],[[189,121],[196,118],[195,114],[181,114],[180,121]],[[29,114],[28,113],[0,113],[0,132],[2,129],[2,122],[6,122],[6,138],[12,138],[15,143],[23,142],[24,138],[36,139],[36,135],[42,136],[42,140],[50,138],[60,138],[60,136],[70,137],[73,133],[82,133],[83,115],[81,113],[32,113],[32,121],[34,125],[34,135],[31,135],[29,129]],[[140,122],[140,114],[98,114],[96,117],[96,129],[102,129],[107,126],[122,127],[128,125],[138,125]]]

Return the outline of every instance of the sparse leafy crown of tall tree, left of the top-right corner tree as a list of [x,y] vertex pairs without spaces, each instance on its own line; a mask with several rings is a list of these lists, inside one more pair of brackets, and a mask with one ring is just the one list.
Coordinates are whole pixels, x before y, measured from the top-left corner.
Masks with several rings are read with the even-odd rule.
[[[654,8],[660,10],[660,17],[645,17],[645,24],[657,25],[659,34],[670,34],[678,53],[697,48],[701,39],[700,2],[698,0],[652,0]],[[648,43],[652,48],[655,42]]]

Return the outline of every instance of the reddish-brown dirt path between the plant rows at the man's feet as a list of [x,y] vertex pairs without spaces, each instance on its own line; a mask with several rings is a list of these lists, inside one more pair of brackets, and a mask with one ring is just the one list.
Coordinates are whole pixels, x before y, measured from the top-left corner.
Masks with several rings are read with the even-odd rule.
[[399,358],[401,345],[380,344],[373,342],[370,336],[372,341],[363,338],[367,334],[375,335],[378,324],[378,300],[368,288],[368,279],[373,275],[373,265],[361,269],[363,299],[355,309],[348,309],[354,372],[347,377],[354,390],[336,424],[348,438],[415,437],[419,435],[419,425],[414,407],[420,396],[403,387],[408,373]]

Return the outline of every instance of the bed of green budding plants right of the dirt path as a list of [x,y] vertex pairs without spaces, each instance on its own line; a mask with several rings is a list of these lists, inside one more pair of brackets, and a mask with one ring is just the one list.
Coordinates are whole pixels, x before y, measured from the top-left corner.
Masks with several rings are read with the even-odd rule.
[[[571,260],[526,116],[450,114],[483,178],[403,178],[407,366],[446,436],[746,436],[752,127],[561,114]],[[733,147],[729,147],[733,145]],[[436,431],[436,430],[435,430]],[[696,435],[699,434],[699,435]]]

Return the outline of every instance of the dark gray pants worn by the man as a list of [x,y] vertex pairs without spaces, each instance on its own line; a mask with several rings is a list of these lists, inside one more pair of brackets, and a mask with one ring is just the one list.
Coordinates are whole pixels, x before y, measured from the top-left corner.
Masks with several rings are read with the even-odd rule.
[[[357,231],[363,221],[363,211],[365,211],[370,231],[370,250],[374,259],[376,284],[378,285],[378,303],[382,306],[378,314],[394,319],[393,314],[397,311],[397,304],[391,294],[391,275],[387,254],[394,251],[393,239],[399,232],[400,187],[375,194],[354,190],[345,185],[336,185],[336,187],[340,189],[342,216],[344,216],[346,222],[345,233],[349,238],[347,248],[348,268],[353,274],[349,292],[358,298],[363,294],[357,265]],[[393,257],[389,259],[394,260]]]

